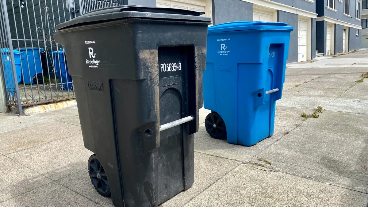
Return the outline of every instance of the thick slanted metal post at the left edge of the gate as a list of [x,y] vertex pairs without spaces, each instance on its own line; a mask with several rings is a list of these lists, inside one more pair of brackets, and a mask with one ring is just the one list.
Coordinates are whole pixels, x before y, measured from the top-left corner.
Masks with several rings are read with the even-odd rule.
[[23,115],[23,110],[22,110],[22,102],[21,102],[21,97],[19,94],[19,86],[18,86],[18,80],[17,80],[17,70],[15,68],[15,59],[14,59],[14,52],[13,52],[13,42],[11,41],[11,33],[10,33],[10,24],[9,24],[9,17],[8,17],[8,9],[6,6],[6,1],[1,1],[3,3],[3,14],[4,14],[4,20],[5,20],[5,27],[6,27],[6,33],[7,33],[7,38],[8,38],[8,43],[9,43],[9,50],[10,50],[10,57],[11,57],[11,63],[12,63],[12,67],[13,67],[13,77],[14,77],[14,86],[15,86],[15,91],[16,91],[16,96],[17,96],[17,106],[18,106],[18,110],[19,110],[19,115]]

